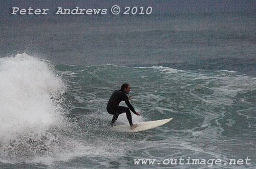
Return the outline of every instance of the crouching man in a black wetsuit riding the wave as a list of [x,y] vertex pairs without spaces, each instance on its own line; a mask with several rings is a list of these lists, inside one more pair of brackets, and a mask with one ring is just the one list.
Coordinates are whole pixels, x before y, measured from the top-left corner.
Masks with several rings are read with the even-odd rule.
[[[133,124],[132,121],[132,115],[131,115],[131,111],[132,110],[134,112],[135,115],[139,116],[140,114],[138,112],[135,111],[135,109],[133,108],[133,106],[130,103],[130,99],[132,96],[129,96],[129,98],[127,97],[126,94],[129,94],[130,92],[130,85],[128,85],[127,83],[123,83],[123,85],[121,86],[121,89],[119,91],[115,91],[112,93],[110,100],[108,102],[108,105],[106,106],[106,110],[108,110],[109,114],[114,115],[113,119],[111,121],[111,126],[114,125],[114,123],[116,122],[118,116],[120,114],[122,114],[123,112],[126,113],[126,117],[130,123],[131,129],[134,129],[135,127],[137,127],[137,124]],[[119,103],[121,101],[125,101],[126,105],[129,107],[123,107],[123,106],[119,106]]]

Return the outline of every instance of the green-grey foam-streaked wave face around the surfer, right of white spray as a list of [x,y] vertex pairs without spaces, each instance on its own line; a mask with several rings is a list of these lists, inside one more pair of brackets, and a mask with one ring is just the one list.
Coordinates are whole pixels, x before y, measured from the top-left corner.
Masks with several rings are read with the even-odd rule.
[[[113,153],[111,157],[106,154],[82,157],[94,166],[129,167],[136,158],[161,161],[166,157],[190,157],[225,162],[247,156],[255,159],[248,153],[255,150],[253,76],[236,71],[177,70],[163,66],[109,64],[55,68],[67,80],[68,97],[73,102],[69,117],[87,133],[84,140],[94,142],[98,150]],[[141,133],[111,132],[108,125],[112,116],[105,107],[111,93],[123,82],[130,83],[132,104],[141,113],[140,117],[133,116],[135,123],[171,117],[174,120]],[[126,117],[120,115],[117,124],[123,123],[127,123]],[[246,151],[241,152],[241,147]],[[101,162],[95,163],[94,158]]]

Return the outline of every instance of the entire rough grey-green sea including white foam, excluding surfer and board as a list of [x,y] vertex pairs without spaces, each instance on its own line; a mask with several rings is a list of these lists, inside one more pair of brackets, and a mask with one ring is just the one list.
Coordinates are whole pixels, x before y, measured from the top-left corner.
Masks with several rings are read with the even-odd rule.
[[[256,167],[255,13],[2,23],[0,168]],[[174,119],[138,133],[111,130],[106,104],[124,82],[141,115],[134,123]],[[165,160],[180,158],[222,163]]]

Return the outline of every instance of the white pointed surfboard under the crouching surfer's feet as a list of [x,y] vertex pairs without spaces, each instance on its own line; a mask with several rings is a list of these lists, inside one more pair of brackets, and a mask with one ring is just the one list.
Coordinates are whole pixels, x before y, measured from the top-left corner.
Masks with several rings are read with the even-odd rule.
[[140,123],[137,123],[138,126],[134,129],[131,129],[131,126],[129,124],[113,126],[112,129],[115,131],[122,131],[122,132],[138,132],[138,131],[148,130],[158,126],[162,126],[165,123],[168,123],[169,121],[171,121],[172,119],[173,118],[148,121],[148,122],[140,122]]

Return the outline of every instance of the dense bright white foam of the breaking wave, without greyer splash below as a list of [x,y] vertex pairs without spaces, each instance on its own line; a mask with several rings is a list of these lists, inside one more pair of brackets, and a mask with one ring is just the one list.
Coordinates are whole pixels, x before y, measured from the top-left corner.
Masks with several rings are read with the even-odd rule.
[[17,54],[0,60],[0,140],[26,130],[45,130],[61,119],[51,97],[65,91],[47,63]]

